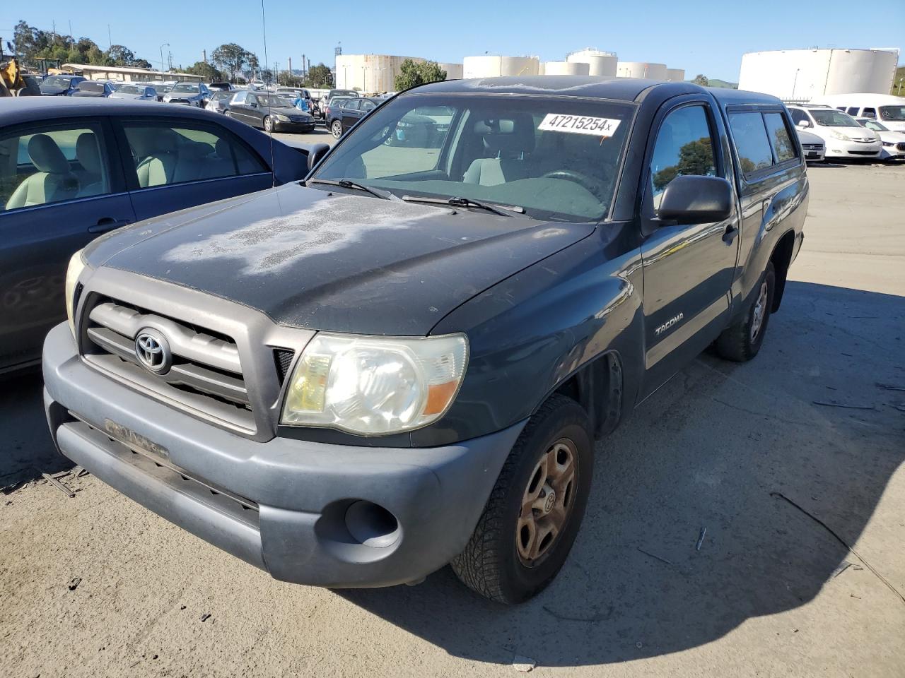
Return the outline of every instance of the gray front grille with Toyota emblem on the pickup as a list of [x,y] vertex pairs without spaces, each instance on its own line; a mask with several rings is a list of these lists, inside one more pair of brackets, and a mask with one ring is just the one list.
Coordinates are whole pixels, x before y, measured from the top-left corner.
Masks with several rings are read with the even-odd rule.
[[[252,406],[235,342],[203,327],[124,302],[98,297],[87,309],[82,355],[103,372],[181,410],[248,433]],[[138,334],[153,331],[166,344],[163,369],[139,355]]]

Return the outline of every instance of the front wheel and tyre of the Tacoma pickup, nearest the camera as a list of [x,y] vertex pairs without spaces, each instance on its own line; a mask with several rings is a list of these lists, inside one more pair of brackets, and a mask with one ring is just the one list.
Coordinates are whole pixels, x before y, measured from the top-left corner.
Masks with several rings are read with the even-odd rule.
[[465,551],[452,560],[459,579],[508,605],[545,589],[575,541],[593,466],[585,410],[551,396],[521,432]]

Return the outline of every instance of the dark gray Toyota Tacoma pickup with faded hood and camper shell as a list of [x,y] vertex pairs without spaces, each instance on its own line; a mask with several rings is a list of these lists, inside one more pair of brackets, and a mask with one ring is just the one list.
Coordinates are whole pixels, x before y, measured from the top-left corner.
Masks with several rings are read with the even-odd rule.
[[711,344],[760,350],[807,200],[772,97],[411,89],[300,184],[76,254],[44,344],[52,436],[276,579],[390,586],[452,563],[519,602],[567,558],[595,440]]

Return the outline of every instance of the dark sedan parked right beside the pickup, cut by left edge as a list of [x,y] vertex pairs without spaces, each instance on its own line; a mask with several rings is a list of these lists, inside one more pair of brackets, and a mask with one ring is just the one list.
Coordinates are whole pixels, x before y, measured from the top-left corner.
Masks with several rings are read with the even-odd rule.
[[40,358],[66,262],[99,233],[308,170],[307,149],[197,108],[0,99],[0,372]]

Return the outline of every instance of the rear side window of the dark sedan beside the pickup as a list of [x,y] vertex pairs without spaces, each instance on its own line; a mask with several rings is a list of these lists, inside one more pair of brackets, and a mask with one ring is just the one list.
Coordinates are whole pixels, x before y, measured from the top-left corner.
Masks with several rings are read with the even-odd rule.
[[179,121],[124,122],[138,187],[268,172],[260,158],[223,127]]

